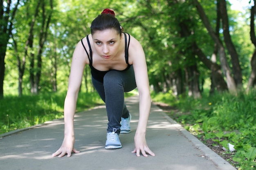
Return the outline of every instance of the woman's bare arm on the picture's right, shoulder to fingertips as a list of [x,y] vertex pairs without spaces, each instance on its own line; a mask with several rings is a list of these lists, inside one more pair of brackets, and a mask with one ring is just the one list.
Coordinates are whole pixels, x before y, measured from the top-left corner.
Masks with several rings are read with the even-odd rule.
[[130,57],[132,59],[135,81],[139,91],[139,122],[134,137],[135,149],[132,153],[136,153],[136,155],[139,156],[141,151],[142,155],[145,157],[148,156],[146,152],[155,156],[146,144],[146,128],[151,107],[146,58],[141,44],[133,37],[131,38],[131,47],[129,48],[129,59]]

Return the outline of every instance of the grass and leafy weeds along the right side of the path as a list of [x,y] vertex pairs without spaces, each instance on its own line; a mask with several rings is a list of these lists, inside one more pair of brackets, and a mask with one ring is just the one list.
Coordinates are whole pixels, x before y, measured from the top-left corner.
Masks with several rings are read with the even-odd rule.
[[[152,94],[156,102],[163,102],[177,109],[169,116],[182,124],[197,137],[212,139],[227,149],[228,143],[235,145],[232,162],[240,170],[256,168],[256,92],[229,93],[203,96],[193,99],[189,96]],[[225,151],[223,151],[225,152]],[[229,161],[229,160],[227,160]]]

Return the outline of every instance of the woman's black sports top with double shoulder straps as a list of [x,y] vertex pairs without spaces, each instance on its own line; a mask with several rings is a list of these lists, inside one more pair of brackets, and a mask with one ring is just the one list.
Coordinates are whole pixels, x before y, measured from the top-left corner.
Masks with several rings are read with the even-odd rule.
[[[128,34],[128,33],[127,33]],[[126,37],[126,33],[124,33],[124,38],[125,38],[125,61],[126,61],[126,64],[128,64],[127,68],[125,70],[122,70],[122,71],[126,71],[130,68],[130,64],[128,63],[128,49],[129,49],[129,45],[130,45],[130,35],[128,34],[129,36],[129,40],[128,40],[128,45],[127,45],[127,37]],[[86,50],[84,44],[83,44],[83,39],[81,39],[81,43],[83,45],[83,48],[85,49],[85,52],[86,54],[88,55],[88,59],[89,59],[89,66],[91,68],[91,74],[92,74],[92,77],[98,81],[100,81],[101,83],[103,83],[103,78],[105,76],[105,74],[111,70],[107,70],[107,71],[100,71],[100,70],[97,70],[96,68],[94,68],[92,66],[92,48],[91,48],[91,45],[90,45],[90,41],[89,41],[89,37],[88,35],[86,36],[86,39],[87,39],[87,42],[88,42],[88,46],[89,46],[89,49],[90,49],[90,56],[89,56],[89,53],[88,51]]]

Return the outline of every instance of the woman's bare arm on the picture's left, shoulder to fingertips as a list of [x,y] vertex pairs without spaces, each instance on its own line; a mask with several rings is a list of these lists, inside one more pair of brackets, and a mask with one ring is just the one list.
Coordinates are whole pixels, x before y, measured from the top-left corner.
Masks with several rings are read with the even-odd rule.
[[64,139],[61,147],[53,153],[52,156],[59,155],[58,157],[63,157],[67,154],[67,157],[70,157],[72,151],[74,153],[79,153],[79,151],[74,149],[74,114],[83,70],[87,63],[84,53],[85,51],[83,50],[80,41],[73,53],[67,95],[64,103]]

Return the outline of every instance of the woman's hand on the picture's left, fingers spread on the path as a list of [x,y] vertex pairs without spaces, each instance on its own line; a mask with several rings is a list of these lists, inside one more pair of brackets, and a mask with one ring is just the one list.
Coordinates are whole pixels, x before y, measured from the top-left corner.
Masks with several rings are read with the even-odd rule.
[[63,157],[67,154],[67,157],[70,157],[72,152],[80,153],[80,151],[74,149],[74,143],[74,137],[64,137],[61,147],[52,156]]

